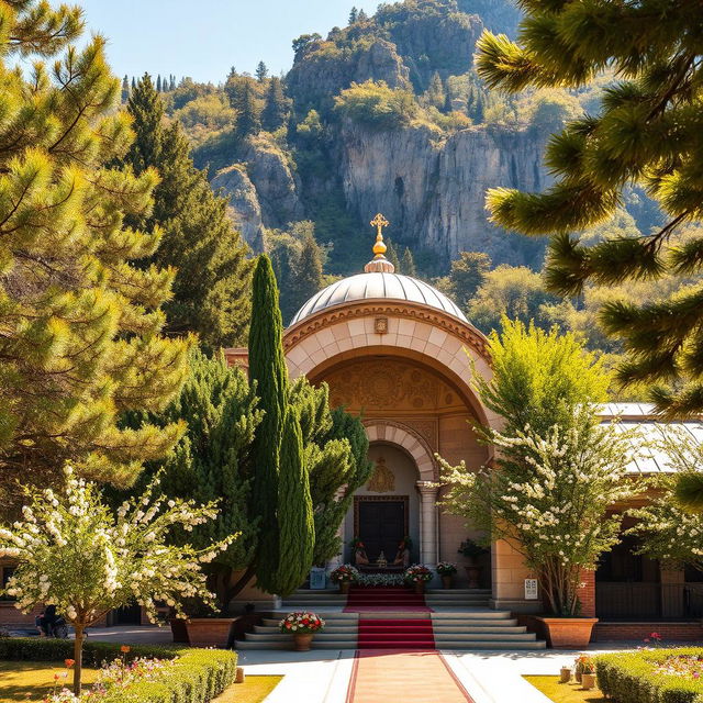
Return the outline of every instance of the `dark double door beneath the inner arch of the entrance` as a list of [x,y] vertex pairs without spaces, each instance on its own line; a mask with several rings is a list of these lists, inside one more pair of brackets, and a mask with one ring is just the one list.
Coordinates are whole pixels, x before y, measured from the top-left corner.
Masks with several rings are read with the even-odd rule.
[[399,543],[408,534],[408,496],[357,496],[354,522],[369,561],[376,561],[383,551],[388,561],[392,562]]

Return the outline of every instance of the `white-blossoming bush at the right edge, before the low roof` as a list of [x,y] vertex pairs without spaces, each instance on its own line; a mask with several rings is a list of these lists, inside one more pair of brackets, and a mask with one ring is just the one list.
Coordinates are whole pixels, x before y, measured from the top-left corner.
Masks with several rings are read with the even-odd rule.
[[674,567],[689,565],[703,570],[703,446],[684,429],[662,434],[657,446],[667,456],[672,473],[651,478],[652,495],[644,507],[628,514],[637,524],[627,531],[639,538],[639,551]]

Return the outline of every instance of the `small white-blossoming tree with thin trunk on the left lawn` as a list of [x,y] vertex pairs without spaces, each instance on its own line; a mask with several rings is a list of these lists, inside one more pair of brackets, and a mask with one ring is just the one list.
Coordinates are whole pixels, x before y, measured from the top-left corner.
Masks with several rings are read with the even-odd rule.
[[181,615],[186,598],[214,604],[200,563],[227,549],[236,535],[207,549],[170,546],[167,536],[175,525],[191,531],[213,520],[217,511],[214,503],[166,501],[157,490],[158,477],[144,494],[125,501],[115,516],[98,487],[67,468],[63,492],[30,490],[23,520],[0,527],[0,556],[19,565],[4,593],[14,596],[24,612],[40,604],[56,605],[76,631],[76,695],[86,627],[108,611],[136,601],[155,621],[156,601]]

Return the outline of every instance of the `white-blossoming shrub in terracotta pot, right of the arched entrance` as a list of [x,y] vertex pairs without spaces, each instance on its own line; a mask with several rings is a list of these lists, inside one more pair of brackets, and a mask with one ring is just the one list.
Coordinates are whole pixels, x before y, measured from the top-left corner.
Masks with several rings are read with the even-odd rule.
[[581,571],[594,569],[618,542],[622,517],[606,509],[636,491],[625,480],[627,433],[599,425],[591,408],[578,413],[572,427],[555,425],[544,437],[529,427],[512,437],[491,432],[501,450],[496,469],[473,473],[440,460],[449,512],[492,539],[510,540],[559,616],[578,614]]

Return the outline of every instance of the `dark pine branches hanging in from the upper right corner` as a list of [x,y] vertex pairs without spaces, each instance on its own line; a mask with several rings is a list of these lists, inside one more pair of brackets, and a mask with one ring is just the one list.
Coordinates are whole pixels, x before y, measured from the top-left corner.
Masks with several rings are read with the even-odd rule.
[[[568,122],[549,142],[554,186],[542,194],[489,192],[494,222],[551,235],[546,279],[560,294],[579,294],[587,282],[700,276],[703,237],[680,242],[676,232],[703,216],[703,65],[691,30],[703,23],[703,4],[544,4],[523,3],[522,45],[483,34],[478,69],[487,83],[511,92],[528,86],[578,89],[604,66],[617,80],[604,91],[600,110]],[[633,183],[659,203],[666,226],[595,244],[572,234],[611,216]],[[650,399],[667,416],[703,411],[700,287],[654,303],[611,301],[602,322],[628,353],[621,383],[652,384]]]

